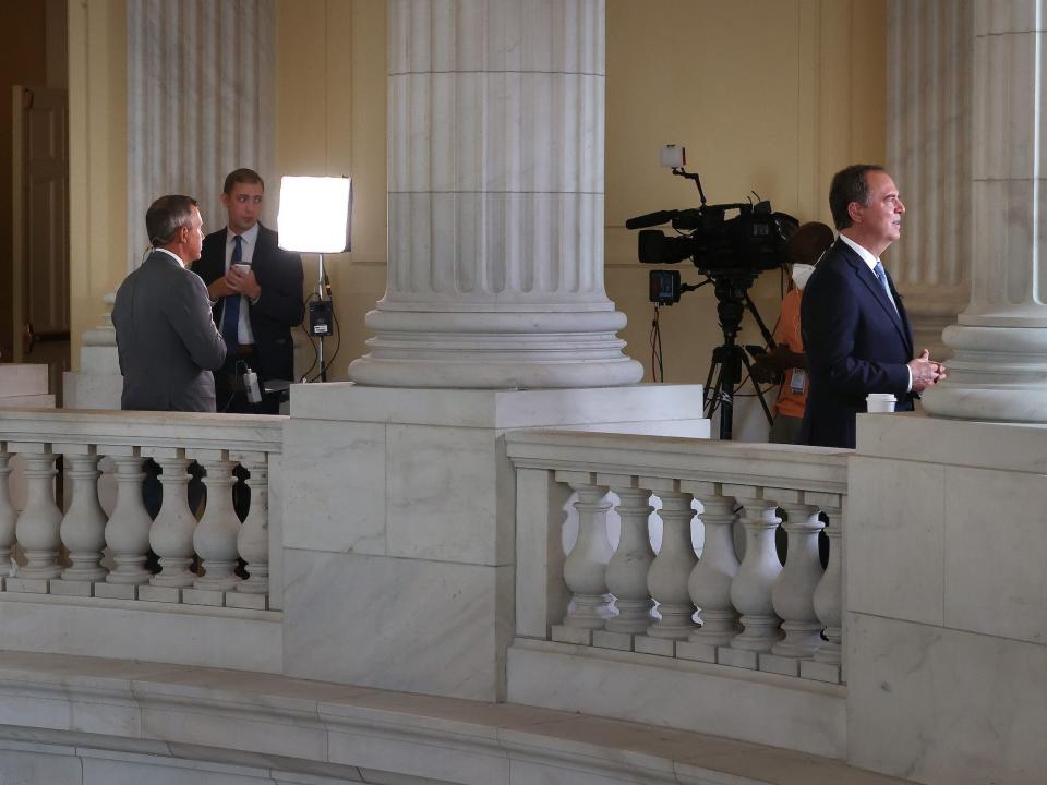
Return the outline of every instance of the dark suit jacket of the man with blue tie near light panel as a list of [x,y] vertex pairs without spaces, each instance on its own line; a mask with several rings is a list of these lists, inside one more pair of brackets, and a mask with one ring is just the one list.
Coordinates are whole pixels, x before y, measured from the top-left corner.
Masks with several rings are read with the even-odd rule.
[[[227,229],[212,232],[204,238],[200,261],[193,271],[204,283],[210,285],[226,274]],[[277,245],[278,235],[272,229],[258,225],[257,245],[251,258],[254,277],[262,287],[262,295],[255,304],[250,301],[248,315],[254,334],[254,350],[258,367],[254,369],[263,379],[294,378],[294,345],[291,328],[301,324],[305,303],[302,298],[302,257],[284,251]],[[221,327],[222,300],[213,309],[215,325]]]

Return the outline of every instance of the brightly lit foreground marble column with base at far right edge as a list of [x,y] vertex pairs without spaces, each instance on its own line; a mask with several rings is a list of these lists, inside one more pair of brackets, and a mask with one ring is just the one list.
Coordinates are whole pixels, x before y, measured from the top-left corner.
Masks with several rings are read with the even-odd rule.
[[1045,5],[975,4],[971,302],[943,335],[949,378],[924,394],[936,415],[1047,422]]

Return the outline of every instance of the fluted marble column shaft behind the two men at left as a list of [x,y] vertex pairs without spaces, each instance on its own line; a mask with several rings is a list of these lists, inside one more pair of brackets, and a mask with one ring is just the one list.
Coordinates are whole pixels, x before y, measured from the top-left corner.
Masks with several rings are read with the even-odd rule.
[[274,173],[275,76],[275,0],[128,0],[129,270],[157,196],[196,197],[214,229],[227,173]]

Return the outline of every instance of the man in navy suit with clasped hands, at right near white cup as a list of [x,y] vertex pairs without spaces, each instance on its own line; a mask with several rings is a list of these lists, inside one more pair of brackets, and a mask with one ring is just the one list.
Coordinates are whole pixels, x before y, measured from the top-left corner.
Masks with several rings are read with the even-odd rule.
[[879,258],[901,237],[905,205],[894,181],[878,166],[847,167],[832,179],[829,206],[840,237],[804,290],[810,389],[797,440],[854,447],[868,394],[893,394],[895,409],[911,411],[946,371],[926,349],[912,359],[912,326]]

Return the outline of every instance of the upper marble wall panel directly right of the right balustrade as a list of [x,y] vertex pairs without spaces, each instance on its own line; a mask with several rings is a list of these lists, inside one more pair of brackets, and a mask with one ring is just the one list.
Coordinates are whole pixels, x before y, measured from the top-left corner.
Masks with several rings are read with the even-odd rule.
[[847,487],[847,606],[942,624],[944,468],[855,456]]

